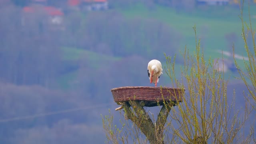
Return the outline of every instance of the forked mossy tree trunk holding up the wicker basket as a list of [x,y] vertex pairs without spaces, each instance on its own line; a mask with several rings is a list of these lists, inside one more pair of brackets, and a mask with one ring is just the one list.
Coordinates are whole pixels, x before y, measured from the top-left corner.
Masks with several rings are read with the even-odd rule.
[[124,102],[121,107],[124,108],[126,118],[132,120],[140,128],[150,144],[164,144],[164,125],[173,106],[172,103],[162,106],[155,124],[142,105],[143,103],[139,101],[131,100]]

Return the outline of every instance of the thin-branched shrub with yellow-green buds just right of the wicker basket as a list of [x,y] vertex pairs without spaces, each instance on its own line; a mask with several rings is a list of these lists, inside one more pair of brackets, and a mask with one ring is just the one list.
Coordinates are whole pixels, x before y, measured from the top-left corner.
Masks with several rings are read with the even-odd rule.
[[[196,34],[195,27],[194,31]],[[235,95],[227,93],[228,81],[225,79],[224,71],[214,70],[218,62],[214,63],[211,58],[205,60],[204,52],[200,49],[200,40],[196,40],[194,54],[189,54],[185,49],[182,82],[176,79],[174,64],[170,63],[170,58],[167,59],[171,65],[167,72],[172,83],[188,88],[186,100],[170,114],[170,129],[185,143],[240,142],[241,133],[238,132],[250,114],[248,104],[245,102],[242,109],[244,114],[240,113],[242,117],[239,117],[241,115],[236,112],[233,104]],[[188,62],[192,62],[192,65]],[[232,102],[228,100],[230,95]]]

